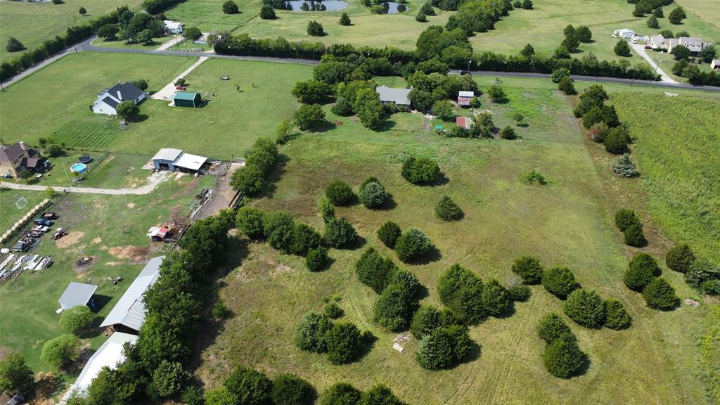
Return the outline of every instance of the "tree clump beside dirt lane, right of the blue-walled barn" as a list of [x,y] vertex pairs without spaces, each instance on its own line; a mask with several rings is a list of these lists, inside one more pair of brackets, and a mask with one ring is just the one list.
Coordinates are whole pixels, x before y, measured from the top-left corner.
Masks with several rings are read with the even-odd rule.
[[230,186],[246,195],[257,195],[277,160],[277,143],[270,138],[258,138],[245,153],[245,166],[233,172]]

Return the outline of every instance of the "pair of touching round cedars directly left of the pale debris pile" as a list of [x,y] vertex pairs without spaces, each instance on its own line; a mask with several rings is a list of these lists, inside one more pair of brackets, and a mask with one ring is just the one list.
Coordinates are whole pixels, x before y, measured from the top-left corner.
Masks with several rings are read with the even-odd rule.
[[334,365],[358,360],[372,334],[362,333],[351,322],[333,322],[329,316],[307,313],[295,329],[295,345],[300,350],[326,353]]

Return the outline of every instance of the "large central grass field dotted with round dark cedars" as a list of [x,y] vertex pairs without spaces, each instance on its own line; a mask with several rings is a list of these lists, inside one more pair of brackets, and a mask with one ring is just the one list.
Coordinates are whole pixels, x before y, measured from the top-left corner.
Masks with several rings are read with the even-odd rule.
[[[318,391],[339,381],[361,389],[387,383],[401,399],[417,405],[710,403],[695,374],[698,349],[693,335],[702,329],[707,307],[652,311],[624,286],[628,257],[570,104],[546,81],[505,86],[508,104],[493,105],[484,96],[482,108],[493,112],[496,123],[504,123],[513,109],[526,113],[528,127],[518,128],[526,137],[522,141],[439,138],[424,130],[423,117],[416,114],[394,115],[387,130],[379,133],[365,130],[354,117],[328,115],[341,125],[300,135],[281,148],[287,162],[279,180],[253,205],[287,210],[321,230],[315,201],[325,186],[343,179],[357,187],[369,176],[384,184],[392,204],[385,210],[361,205],[336,209],[336,215],[356,226],[364,246],[333,249],[333,263],[325,272],[310,273],[302,258],[243,239],[243,246],[235,248],[243,263],[225,277],[220,292],[234,316],[217,337],[208,337],[211,344],[197,372],[206,387],[217,386],[235,365],[248,364],[271,376],[297,373]],[[531,106],[530,100],[537,105]],[[401,162],[413,155],[437,159],[447,182],[433,187],[405,182]],[[528,169],[539,169],[549,184],[523,184],[518,177]],[[462,207],[462,221],[435,218],[433,207],[442,195]],[[590,367],[572,380],[554,378],[542,365],[544,344],[535,326],[545,313],[562,311],[562,302],[537,286],[531,299],[517,303],[510,316],[472,326],[471,337],[480,346],[472,359],[453,370],[423,370],[415,362],[415,339],[400,354],[392,349],[395,334],[373,323],[377,295],[354,273],[354,263],[367,246],[399,263],[375,236],[388,220],[403,229],[422,229],[438,249],[426,263],[400,266],[413,271],[427,289],[423,303],[439,305],[437,280],[453,263],[485,280],[504,282],[513,259],[531,254],[546,266],[569,266],[585,288],[621,300],[634,324],[626,331],[588,330],[569,321]],[[681,297],[695,296],[678,275],[666,277]],[[333,294],[341,297],[343,320],[377,337],[372,349],[351,365],[330,365],[323,355],[302,352],[293,344],[302,315],[322,311],[323,298]]]

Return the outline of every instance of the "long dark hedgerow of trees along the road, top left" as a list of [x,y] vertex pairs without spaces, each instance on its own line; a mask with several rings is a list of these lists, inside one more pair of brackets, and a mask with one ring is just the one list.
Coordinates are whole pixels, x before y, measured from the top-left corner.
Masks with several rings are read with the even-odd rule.
[[54,38],[45,40],[45,42],[38,45],[35,49],[27,50],[22,53],[22,55],[1,63],[0,80],[8,79],[33,64],[55,55],[55,53],[60,52],[60,50],[63,50],[67,46],[85,40],[104,25],[117,24],[118,18],[125,11],[127,11],[127,6],[118,7],[114,12],[92,19],[89,22],[84,22],[82,25],[68,27],[65,35],[56,35]]

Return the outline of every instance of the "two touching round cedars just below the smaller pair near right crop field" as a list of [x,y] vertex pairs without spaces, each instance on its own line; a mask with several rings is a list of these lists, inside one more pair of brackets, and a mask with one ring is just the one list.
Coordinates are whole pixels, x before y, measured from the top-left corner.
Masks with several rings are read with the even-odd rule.
[[660,311],[669,311],[678,306],[678,296],[664,278],[660,276],[660,266],[647,253],[633,257],[625,272],[623,281],[627,288],[642,293],[647,306]]

